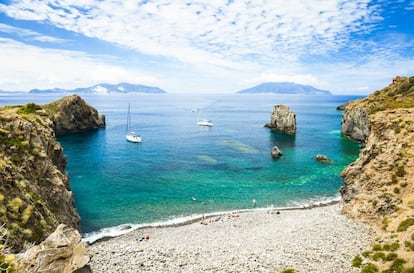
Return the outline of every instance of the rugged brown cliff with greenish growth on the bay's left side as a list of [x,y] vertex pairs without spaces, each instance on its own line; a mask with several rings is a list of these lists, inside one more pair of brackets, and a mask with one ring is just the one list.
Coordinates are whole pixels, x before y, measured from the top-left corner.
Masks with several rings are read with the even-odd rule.
[[104,124],[76,95],[48,105],[0,108],[0,223],[13,251],[40,243],[61,223],[79,229],[66,158],[55,136]]

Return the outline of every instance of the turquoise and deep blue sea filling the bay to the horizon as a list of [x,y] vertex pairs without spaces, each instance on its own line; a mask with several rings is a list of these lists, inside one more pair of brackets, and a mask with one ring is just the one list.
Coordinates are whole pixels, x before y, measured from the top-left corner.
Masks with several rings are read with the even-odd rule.
[[[0,105],[49,103],[70,94],[0,94]],[[342,136],[336,107],[357,96],[277,94],[81,94],[106,127],[61,136],[66,171],[93,242],[201,215],[304,208],[338,201],[340,176],[359,144]],[[277,104],[296,113],[297,133],[264,127]],[[141,143],[125,139],[128,105]],[[210,119],[212,127],[198,126]],[[271,157],[273,146],[283,155]],[[315,160],[328,156],[331,163]]]

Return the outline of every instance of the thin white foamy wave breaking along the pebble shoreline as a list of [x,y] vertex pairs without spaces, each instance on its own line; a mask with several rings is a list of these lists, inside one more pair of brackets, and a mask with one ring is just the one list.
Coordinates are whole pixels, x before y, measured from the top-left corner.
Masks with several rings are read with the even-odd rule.
[[310,209],[314,207],[321,207],[321,206],[335,204],[335,203],[338,203],[340,199],[341,199],[340,195],[337,195],[334,197],[318,197],[318,198],[303,200],[300,202],[291,202],[291,204],[289,204],[288,206],[284,206],[284,207],[273,207],[273,205],[270,205],[268,207],[254,208],[254,209],[240,209],[240,210],[232,210],[232,211],[220,211],[220,212],[210,212],[210,213],[203,213],[203,214],[193,214],[189,216],[177,217],[171,220],[153,222],[153,223],[122,224],[119,226],[103,228],[103,229],[100,229],[99,231],[84,233],[82,240],[89,244],[93,244],[97,241],[121,236],[121,235],[124,235],[126,233],[132,232],[137,229],[185,225],[185,224],[189,224],[189,223],[193,223],[195,221],[201,220],[203,217],[214,217],[214,216],[226,215],[226,214],[231,214],[231,213],[244,213],[244,212],[251,212],[251,211],[269,211],[269,210],[283,211],[283,210],[294,210],[294,209]]

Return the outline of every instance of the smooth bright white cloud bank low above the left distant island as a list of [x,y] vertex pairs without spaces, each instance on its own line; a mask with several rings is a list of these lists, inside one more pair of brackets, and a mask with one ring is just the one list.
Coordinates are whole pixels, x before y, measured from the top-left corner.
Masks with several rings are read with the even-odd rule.
[[3,90],[75,88],[100,82],[157,83],[138,70],[108,65],[103,56],[82,52],[41,49],[0,38],[0,86]]

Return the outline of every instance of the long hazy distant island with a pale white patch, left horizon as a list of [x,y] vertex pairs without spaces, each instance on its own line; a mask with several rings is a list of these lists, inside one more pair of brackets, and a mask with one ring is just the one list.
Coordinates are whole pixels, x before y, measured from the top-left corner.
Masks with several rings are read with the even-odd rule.
[[167,93],[158,87],[146,86],[141,84],[131,83],[100,83],[91,87],[76,88],[72,90],[62,88],[52,89],[32,89],[29,93],[92,93],[92,94],[107,94],[107,93]]

